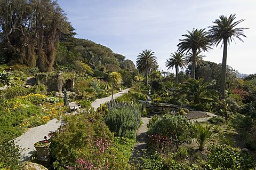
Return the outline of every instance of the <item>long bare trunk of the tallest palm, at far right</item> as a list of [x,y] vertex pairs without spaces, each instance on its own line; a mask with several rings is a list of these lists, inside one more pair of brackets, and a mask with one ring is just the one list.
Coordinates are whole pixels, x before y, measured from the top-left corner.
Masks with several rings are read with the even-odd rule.
[[222,67],[221,67],[221,74],[220,74],[220,95],[222,99],[225,98],[227,46],[228,46],[228,38],[223,38],[223,58],[222,58]]

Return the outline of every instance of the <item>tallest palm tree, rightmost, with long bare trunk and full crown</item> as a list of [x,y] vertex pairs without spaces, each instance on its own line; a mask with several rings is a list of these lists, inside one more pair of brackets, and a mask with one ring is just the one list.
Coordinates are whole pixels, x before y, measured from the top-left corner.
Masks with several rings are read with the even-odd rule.
[[[225,83],[226,83],[226,67],[227,67],[227,46],[230,42],[234,41],[234,38],[238,38],[240,41],[244,42],[239,36],[246,37],[244,35],[244,29],[247,28],[235,28],[238,23],[244,20],[235,21],[236,14],[231,14],[229,17],[220,15],[219,19],[213,21],[214,26],[210,26],[210,37],[214,45],[218,46],[221,42],[223,44],[223,58],[222,58],[222,68],[220,75],[220,94],[222,98],[225,97]],[[222,45],[221,45],[222,46]]]

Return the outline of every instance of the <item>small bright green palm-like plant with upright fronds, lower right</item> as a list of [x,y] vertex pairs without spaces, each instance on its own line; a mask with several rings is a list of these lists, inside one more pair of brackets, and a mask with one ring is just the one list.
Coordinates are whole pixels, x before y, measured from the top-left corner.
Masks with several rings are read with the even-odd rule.
[[196,139],[196,143],[198,144],[199,151],[203,151],[207,142],[211,140],[212,132],[210,131],[211,126],[202,123],[195,123],[193,126],[194,129],[194,138]]

